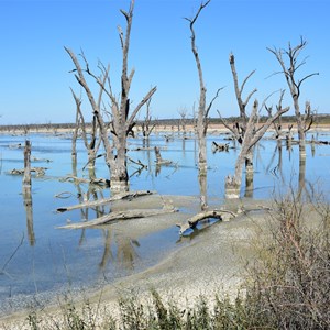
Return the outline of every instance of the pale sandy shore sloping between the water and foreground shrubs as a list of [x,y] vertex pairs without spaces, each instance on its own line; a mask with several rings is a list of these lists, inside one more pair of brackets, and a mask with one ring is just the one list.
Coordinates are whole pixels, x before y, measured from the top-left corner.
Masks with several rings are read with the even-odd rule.
[[[196,202],[191,199],[185,200],[186,205],[191,201]],[[255,200],[244,200],[243,205],[248,210],[260,209],[260,202]],[[222,207],[232,210],[238,207],[238,202]],[[174,226],[178,219],[183,221],[186,217],[176,215],[160,221],[157,226]],[[147,220],[141,220],[140,223],[140,220],[136,221],[134,223],[136,228],[147,226],[145,222]],[[194,304],[199,295],[213,298],[217,292],[233,297],[240,288],[245,272],[244,266],[253,255],[251,242],[264,227],[265,221],[265,212],[249,211],[231,221],[206,227],[196,235],[182,238],[188,240],[187,244],[167,255],[155,266],[105,285],[101,290],[89,293],[89,298],[91,301],[101,299],[102,307],[116,310],[120,296],[135,294],[141,299],[147,299],[152,288],[163,297],[170,297],[183,306],[187,301]],[[134,228],[130,230],[134,231]],[[56,315],[56,308],[58,306],[48,307],[43,312]],[[22,329],[25,318],[24,312],[4,317],[0,319],[0,329]]]

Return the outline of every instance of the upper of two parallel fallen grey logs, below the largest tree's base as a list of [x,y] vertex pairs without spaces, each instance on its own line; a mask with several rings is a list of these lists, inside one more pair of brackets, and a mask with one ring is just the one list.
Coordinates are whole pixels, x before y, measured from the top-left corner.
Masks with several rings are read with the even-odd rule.
[[132,199],[135,197],[141,197],[141,196],[146,196],[146,195],[152,195],[152,194],[153,193],[150,190],[121,193],[121,194],[117,194],[109,198],[103,198],[103,199],[99,199],[99,200],[89,200],[89,201],[85,201],[85,202],[77,204],[77,205],[69,206],[69,207],[61,207],[61,208],[57,208],[56,211],[57,212],[66,212],[66,211],[72,211],[72,210],[76,210],[76,209],[81,209],[81,208],[91,208],[91,207],[109,204],[111,201],[116,201],[116,200],[120,200],[120,199]]

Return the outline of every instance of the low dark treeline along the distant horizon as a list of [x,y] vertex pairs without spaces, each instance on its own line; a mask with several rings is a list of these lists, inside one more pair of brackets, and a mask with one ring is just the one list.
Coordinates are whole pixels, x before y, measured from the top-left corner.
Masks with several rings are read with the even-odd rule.
[[[262,116],[260,118],[260,122],[263,123],[267,120],[268,117]],[[239,117],[229,117],[226,118],[226,121],[229,123],[233,123],[239,121]],[[295,116],[284,116],[282,117],[282,121],[286,123],[295,123],[296,117]],[[177,125],[189,125],[194,124],[194,119],[154,119],[152,120],[151,124],[156,124],[160,127],[177,127]],[[210,124],[221,124],[220,118],[209,118]],[[317,114],[315,118],[315,123],[329,123],[330,124],[330,114]],[[136,121],[138,125],[142,125],[143,121]],[[86,123],[87,128],[91,127],[90,123]],[[43,124],[10,124],[10,125],[0,125],[0,131],[10,132],[10,131],[44,131],[44,130],[58,130],[58,129],[74,129],[76,127],[75,123],[43,123]]]

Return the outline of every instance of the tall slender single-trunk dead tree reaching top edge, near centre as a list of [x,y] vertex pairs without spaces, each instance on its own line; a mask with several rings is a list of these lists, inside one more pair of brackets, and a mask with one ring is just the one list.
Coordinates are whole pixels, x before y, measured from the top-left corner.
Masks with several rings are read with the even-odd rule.
[[186,18],[189,22],[189,28],[191,32],[191,51],[195,57],[198,77],[199,77],[199,106],[198,106],[198,114],[197,114],[197,136],[198,136],[198,167],[199,175],[206,175],[207,172],[207,145],[206,145],[206,134],[208,129],[208,116],[211,110],[212,103],[218,97],[220,89],[218,89],[217,95],[211,100],[209,106],[206,103],[206,94],[207,88],[204,82],[202,68],[199,58],[199,54],[196,47],[196,34],[194,30],[194,25],[200,14],[200,12],[210,3],[211,0],[208,0],[205,3],[201,3],[196,15],[193,19]]

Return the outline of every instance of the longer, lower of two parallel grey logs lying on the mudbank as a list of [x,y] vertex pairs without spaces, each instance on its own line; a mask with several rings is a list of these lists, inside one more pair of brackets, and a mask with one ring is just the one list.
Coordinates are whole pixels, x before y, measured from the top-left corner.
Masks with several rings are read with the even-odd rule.
[[112,221],[118,220],[130,220],[136,218],[146,218],[160,215],[166,215],[170,212],[177,212],[175,208],[163,208],[163,209],[135,209],[135,210],[125,210],[118,212],[110,212],[109,215],[96,218],[94,220],[88,220],[86,222],[80,223],[69,223],[66,226],[57,227],[58,229],[81,229],[81,228],[90,228],[100,224],[107,224]]

